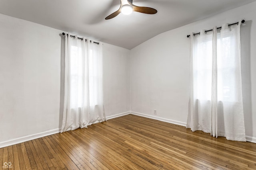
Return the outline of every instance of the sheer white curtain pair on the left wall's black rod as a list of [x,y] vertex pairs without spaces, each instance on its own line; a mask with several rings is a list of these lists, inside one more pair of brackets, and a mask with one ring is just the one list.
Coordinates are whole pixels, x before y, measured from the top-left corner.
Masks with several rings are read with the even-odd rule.
[[61,133],[106,121],[102,92],[102,43],[66,36]]

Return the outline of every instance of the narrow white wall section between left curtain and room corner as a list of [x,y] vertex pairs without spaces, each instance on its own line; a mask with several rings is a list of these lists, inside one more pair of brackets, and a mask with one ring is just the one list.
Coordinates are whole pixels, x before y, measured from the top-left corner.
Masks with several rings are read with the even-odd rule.
[[130,113],[130,50],[103,45],[104,106],[107,119]]

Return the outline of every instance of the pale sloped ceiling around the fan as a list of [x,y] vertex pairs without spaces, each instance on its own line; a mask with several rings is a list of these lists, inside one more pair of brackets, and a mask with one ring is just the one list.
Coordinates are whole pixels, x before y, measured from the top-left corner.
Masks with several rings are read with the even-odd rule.
[[133,0],[158,12],[105,20],[118,10],[120,0],[0,0],[0,13],[132,49],[165,31],[254,1]]

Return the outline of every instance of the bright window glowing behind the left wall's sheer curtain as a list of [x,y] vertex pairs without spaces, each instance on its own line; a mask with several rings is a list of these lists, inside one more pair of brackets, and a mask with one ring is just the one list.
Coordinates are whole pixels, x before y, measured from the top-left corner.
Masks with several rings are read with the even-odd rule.
[[88,57],[83,56],[82,47],[72,45],[70,51],[70,102],[71,108],[83,107],[89,96],[89,106],[98,105],[102,89],[102,61],[99,52],[88,50]]

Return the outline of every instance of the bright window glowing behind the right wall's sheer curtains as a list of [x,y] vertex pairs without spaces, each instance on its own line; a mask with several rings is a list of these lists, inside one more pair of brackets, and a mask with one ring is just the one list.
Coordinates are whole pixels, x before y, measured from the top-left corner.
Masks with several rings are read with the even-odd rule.
[[[202,41],[195,47],[194,92],[199,100],[212,96],[212,40]],[[218,101],[235,102],[236,58],[231,50],[231,37],[217,37],[217,95]]]

